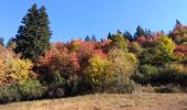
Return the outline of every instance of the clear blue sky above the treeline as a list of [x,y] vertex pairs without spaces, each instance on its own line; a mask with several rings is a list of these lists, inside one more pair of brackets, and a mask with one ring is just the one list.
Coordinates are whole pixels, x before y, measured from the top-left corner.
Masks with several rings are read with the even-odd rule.
[[100,40],[117,30],[134,33],[138,24],[168,32],[176,19],[187,23],[187,0],[1,0],[0,36],[14,36],[34,2],[47,9],[52,42],[92,34]]

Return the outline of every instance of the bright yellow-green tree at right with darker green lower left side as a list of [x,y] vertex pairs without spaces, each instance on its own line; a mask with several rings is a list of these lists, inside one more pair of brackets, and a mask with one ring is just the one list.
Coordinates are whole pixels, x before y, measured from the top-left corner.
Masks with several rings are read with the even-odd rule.
[[168,36],[160,36],[156,45],[143,51],[140,61],[142,64],[162,66],[173,61],[175,43]]

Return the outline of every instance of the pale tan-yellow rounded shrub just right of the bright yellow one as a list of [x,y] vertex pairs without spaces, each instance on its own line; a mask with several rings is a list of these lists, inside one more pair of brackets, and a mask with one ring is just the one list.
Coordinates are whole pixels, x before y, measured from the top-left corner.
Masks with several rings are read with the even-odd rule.
[[132,53],[124,53],[122,50],[113,48],[108,53],[111,66],[108,68],[112,75],[121,74],[131,76],[138,65],[138,59]]

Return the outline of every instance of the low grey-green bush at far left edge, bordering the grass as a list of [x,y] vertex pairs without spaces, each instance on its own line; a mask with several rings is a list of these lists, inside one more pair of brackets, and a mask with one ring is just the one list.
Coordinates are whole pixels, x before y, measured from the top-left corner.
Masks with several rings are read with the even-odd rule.
[[7,103],[12,101],[20,101],[21,96],[18,85],[1,86],[0,87],[0,103]]

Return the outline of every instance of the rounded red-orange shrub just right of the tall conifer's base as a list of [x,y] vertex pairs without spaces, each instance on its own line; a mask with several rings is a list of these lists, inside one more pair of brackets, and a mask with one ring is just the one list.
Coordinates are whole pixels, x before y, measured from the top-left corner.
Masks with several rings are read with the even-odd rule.
[[80,66],[76,53],[48,51],[45,57],[40,58],[38,70],[45,81],[52,82],[57,75],[68,79],[79,73]]

